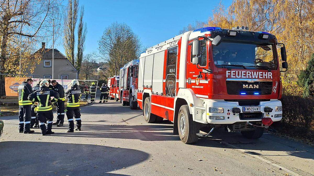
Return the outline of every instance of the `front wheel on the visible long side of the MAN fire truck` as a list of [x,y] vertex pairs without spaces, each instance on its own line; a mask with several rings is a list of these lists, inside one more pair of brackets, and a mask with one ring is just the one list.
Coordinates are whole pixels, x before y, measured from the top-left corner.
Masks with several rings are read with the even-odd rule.
[[198,141],[199,125],[193,121],[187,105],[182,105],[178,114],[178,131],[183,143],[189,144]]

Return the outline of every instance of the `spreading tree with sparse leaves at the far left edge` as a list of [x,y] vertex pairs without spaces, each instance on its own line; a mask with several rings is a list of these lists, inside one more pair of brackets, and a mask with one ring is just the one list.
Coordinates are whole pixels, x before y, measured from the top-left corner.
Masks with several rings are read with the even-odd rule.
[[44,37],[43,29],[50,30],[51,20],[57,18],[60,0],[1,0],[0,1],[0,72],[5,73],[7,59],[12,56],[10,49],[31,52],[39,37]]

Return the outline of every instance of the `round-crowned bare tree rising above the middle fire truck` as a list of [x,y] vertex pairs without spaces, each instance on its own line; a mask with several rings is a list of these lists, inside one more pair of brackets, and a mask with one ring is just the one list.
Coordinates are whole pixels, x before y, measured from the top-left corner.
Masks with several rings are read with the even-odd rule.
[[98,44],[99,52],[108,62],[112,75],[118,75],[120,67],[138,58],[141,51],[139,37],[125,23],[112,23],[105,29]]

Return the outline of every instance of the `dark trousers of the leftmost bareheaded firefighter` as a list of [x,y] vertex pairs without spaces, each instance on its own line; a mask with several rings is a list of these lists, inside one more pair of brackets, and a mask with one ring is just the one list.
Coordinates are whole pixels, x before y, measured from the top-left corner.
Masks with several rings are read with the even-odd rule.
[[19,131],[30,131],[31,105],[19,106]]

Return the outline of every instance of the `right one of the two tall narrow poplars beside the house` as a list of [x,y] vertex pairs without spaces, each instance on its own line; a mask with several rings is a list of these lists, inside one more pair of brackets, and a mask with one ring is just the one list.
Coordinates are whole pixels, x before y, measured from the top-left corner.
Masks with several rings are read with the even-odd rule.
[[85,39],[87,34],[86,23],[83,23],[83,16],[84,16],[84,6],[81,7],[81,13],[79,18],[78,24],[78,53],[76,56],[76,68],[78,69],[78,75],[81,70],[82,60],[83,60],[83,52],[85,49]]

